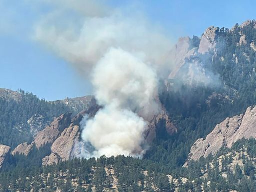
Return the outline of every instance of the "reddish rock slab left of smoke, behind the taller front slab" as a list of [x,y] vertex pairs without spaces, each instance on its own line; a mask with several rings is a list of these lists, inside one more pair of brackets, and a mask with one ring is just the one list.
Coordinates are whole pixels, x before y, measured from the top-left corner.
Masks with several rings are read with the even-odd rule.
[[59,134],[70,125],[71,113],[62,114],[55,118],[54,121],[35,136],[34,143],[40,148],[46,143],[53,143]]

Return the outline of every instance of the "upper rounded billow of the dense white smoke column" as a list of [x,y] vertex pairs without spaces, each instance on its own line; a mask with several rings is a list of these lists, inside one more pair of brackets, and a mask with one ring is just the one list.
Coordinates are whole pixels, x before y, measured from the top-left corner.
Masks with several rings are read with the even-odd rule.
[[100,105],[115,103],[119,108],[138,112],[155,102],[157,75],[131,53],[110,48],[95,66],[92,84]]

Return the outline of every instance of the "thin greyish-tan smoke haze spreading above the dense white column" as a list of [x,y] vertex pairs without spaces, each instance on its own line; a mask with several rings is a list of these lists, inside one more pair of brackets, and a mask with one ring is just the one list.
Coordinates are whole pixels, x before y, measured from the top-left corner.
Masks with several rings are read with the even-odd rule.
[[117,9],[105,12],[104,16],[85,16],[82,12],[78,18],[65,18],[65,11],[57,9],[36,25],[34,38],[86,75],[110,47],[122,48],[147,63],[157,64],[157,70],[169,62],[169,39],[142,16],[135,12],[124,15]]

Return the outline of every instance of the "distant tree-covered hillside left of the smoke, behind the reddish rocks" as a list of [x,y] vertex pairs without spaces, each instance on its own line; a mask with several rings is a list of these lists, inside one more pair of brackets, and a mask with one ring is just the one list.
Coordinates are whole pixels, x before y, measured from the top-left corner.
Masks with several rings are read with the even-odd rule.
[[0,92],[0,144],[14,149],[20,143],[32,141],[33,136],[45,128],[54,117],[65,112],[76,115],[89,105],[92,97],[78,99],[49,102],[23,90],[14,92],[2,89]]

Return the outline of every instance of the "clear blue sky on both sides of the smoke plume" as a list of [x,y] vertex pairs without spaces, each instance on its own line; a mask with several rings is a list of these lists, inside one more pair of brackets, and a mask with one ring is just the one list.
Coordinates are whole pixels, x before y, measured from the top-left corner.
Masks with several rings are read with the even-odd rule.
[[[30,0],[0,0],[0,87],[33,92],[46,100],[92,93],[90,84],[66,61],[35,42],[33,24],[48,10]],[[131,0],[104,0],[127,7]],[[139,0],[139,11],[174,41],[201,35],[211,26],[230,28],[255,18],[253,0]],[[132,12],[133,10],[130,9]]]

